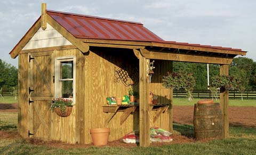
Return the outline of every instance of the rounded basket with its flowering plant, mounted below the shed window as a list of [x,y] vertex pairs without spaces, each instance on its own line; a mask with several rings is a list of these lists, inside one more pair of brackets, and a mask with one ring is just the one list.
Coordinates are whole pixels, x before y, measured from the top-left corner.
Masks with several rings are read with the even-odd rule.
[[52,101],[51,110],[55,111],[60,117],[68,117],[73,108],[72,103],[72,100],[57,98]]

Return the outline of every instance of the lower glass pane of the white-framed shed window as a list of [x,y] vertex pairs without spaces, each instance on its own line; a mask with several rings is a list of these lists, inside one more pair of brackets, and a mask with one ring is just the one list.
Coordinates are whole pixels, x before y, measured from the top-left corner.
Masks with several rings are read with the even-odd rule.
[[73,98],[73,80],[60,81],[61,83],[61,97]]

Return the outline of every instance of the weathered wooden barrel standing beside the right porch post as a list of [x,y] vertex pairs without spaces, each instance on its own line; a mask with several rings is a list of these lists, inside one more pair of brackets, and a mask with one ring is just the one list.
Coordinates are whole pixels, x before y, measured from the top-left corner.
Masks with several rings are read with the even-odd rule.
[[219,103],[195,104],[194,130],[196,140],[222,137],[222,115]]

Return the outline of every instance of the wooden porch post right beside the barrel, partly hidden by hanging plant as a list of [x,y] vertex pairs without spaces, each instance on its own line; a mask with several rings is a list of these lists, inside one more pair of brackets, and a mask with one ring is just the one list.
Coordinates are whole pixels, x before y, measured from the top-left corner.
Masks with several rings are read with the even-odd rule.
[[[220,66],[220,75],[228,76],[228,65],[224,64]],[[228,124],[228,90],[225,88],[220,89],[220,106],[222,111],[222,138],[229,136],[229,124]]]

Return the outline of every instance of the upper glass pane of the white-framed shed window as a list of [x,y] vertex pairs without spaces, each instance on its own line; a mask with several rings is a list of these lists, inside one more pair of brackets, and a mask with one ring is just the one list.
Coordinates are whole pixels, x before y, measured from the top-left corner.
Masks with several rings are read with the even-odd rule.
[[60,62],[60,78],[73,78],[73,61]]

